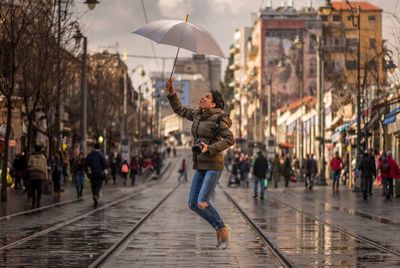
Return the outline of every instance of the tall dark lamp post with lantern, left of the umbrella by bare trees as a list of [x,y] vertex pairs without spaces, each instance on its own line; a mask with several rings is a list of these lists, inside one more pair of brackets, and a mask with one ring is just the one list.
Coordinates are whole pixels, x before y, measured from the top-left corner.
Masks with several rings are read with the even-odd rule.
[[86,134],[87,134],[87,38],[79,28],[76,28],[74,39],[79,45],[83,39],[82,70],[81,70],[81,151],[87,154]]

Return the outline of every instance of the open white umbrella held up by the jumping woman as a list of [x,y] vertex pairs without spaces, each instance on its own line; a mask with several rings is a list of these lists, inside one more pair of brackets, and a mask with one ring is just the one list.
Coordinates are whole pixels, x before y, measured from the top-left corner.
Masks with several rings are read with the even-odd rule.
[[187,21],[188,17],[187,15],[185,21],[157,20],[133,32],[134,34],[147,37],[158,44],[178,47],[170,78],[174,73],[180,48],[193,51],[197,54],[224,57],[222,49],[211,34],[203,28],[189,23]]

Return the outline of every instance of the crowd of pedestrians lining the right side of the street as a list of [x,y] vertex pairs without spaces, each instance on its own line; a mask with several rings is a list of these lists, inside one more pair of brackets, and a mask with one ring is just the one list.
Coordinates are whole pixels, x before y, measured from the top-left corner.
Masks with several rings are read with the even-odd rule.
[[[348,154],[341,158],[339,152],[335,152],[329,166],[326,166],[334,193],[339,191],[340,181],[343,185],[348,184],[352,172],[360,182],[364,200],[372,195],[374,183],[382,187],[382,195],[386,199],[394,197],[394,179],[400,178],[400,169],[390,151],[378,153],[366,150],[356,165],[355,159],[349,163]],[[304,181],[305,188],[309,190],[320,180],[318,164],[312,154],[308,154],[300,163],[295,155],[292,157],[282,153],[267,159],[262,152],[250,157],[236,150],[227,154],[225,166],[230,173],[228,186],[249,187],[249,178],[252,178],[254,198],[263,199],[268,184],[277,188],[282,180],[285,187],[289,187],[290,182]]]

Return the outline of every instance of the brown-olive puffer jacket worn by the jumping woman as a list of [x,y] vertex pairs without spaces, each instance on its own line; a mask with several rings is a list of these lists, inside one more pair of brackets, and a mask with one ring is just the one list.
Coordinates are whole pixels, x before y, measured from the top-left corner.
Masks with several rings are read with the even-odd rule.
[[201,139],[208,146],[208,152],[193,155],[193,168],[198,170],[223,170],[224,156],[222,152],[235,143],[232,132],[229,130],[232,125],[228,115],[223,115],[217,135],[215,135],[215,124],[223,113],[221,109],[191,109],[182,106],[177,95],[168,95],[169,102],[176,114],[185,117],[192,124],[192,135],[194,140]]

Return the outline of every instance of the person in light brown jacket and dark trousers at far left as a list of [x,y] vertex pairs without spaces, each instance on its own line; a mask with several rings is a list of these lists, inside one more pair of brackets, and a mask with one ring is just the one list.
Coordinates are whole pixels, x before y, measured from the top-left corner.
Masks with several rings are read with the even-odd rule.
[[40,207],[42,182],[48,179],[47,159],[42,152],[42,146],[35,145],[35,152],[28,160],[28,173],[31,186],[32,208]]

